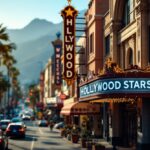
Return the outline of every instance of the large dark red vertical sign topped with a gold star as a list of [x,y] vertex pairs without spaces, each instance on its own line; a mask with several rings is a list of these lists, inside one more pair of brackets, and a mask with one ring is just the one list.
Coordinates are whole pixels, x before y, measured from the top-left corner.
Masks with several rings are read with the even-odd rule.
[[64,79],[70,85],[75,79],[75,19],[78,12],[67,6],[61,12],[64,19]]

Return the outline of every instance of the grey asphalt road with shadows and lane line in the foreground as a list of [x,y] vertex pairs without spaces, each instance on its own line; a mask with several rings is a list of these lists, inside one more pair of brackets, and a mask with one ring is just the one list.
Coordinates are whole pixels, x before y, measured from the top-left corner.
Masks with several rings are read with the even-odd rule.
[[9,150],[80,150],[79,144],[63,139],[58,131],[27,122],[25,139],[9,139]]

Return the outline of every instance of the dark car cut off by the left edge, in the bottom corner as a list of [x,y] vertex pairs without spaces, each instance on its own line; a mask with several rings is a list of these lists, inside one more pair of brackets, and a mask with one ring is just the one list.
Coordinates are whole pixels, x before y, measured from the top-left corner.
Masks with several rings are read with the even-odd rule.
[[0,150],[8,150],[8,137],[0,130]]

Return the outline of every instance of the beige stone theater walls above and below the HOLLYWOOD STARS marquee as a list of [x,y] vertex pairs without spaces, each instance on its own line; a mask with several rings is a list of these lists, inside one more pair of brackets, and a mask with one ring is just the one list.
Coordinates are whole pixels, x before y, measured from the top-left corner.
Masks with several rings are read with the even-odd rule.
[[[133,68],[133,66],[141,69],[149,66],[149,8],[149,0],[110,1],[109,11],[105,15],[104,22],[104,57],[111,57],[124,70]],[[150,103],[148,98],[144,97],[134,97],[134,100],[135,104],[118,104],[118,106],[114,104],[115,110],[117,110],[116,107],[118,109],[122,107],[124,110],[122,114],[125,118],[122,120],[120,118],[118,125],[115,124],[118,131],[114,131],[113,135],[114,137],[120,136],[124,146],[138,145],[137,149],[145,150],[150,144],[148,129]]]

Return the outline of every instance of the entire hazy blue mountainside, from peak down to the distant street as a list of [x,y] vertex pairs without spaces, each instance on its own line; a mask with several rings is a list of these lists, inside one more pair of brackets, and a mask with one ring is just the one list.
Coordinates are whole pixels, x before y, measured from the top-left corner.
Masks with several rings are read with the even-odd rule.
[[[83,16],[85,10],[79,12]],[[22,29],[8,29],[7,33],[17,50],[13,52],[20,70],[20,81],[29,83],[37,81],[48,59],[54,54],[51,44],[56,33],[63,31],[62,22],[54,24],[45,19],[36,18]]]

